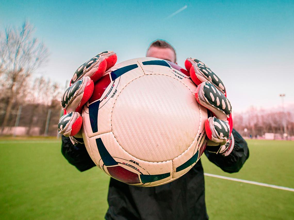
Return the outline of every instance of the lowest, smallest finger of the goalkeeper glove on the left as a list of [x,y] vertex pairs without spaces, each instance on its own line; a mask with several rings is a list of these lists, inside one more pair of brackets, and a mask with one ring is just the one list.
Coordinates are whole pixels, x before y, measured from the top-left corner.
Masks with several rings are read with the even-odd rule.
[[65,137],[76,135],[82,127],[83,119],[78,112],[69,112],[63,115],[58,122],[59,134]]

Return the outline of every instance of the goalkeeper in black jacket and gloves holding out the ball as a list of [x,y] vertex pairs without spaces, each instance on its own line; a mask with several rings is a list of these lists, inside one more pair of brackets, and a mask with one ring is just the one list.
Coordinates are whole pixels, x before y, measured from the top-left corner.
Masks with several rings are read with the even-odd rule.
[[[176,63],[176,51],[166,41],[153,41],[147,49],[147,57]],[[63,134],[61,152],[79,171],[96,164],[92,161],[80,129],[83,105],[91,97],[91,89],[105,70],[115,65],[116,54],[105,51],[80,66],[71,80],[71,87],[62,97],[67,113],[59,120],[59,132]],[[247,143],[233,129],[230,102],[226,98],[223,82],[204,63],[187,58],[185,62],[191,79],[198,86],[196,100],[211,112],[205,122],[208,146],[204,153],[208,159],[228,173],[238,172],[249,157]],[[84,77],[86,76],[86,77]],[[210,90],[218,90],[218,102],[206,96]],[[81,95],[83,94],[83,95]],[[212,99],[212,100],[211,100]],[[226,105],[220,105],[226,103]],[[222,126],[218,126],[222,125]],[[228,189],[229,190],[229,189]],[[156,187],[136,187],[111,178],[108,189],[109,208],[105,219],[208,219],[205,204],[204,172],[201,159],[179,179]]]

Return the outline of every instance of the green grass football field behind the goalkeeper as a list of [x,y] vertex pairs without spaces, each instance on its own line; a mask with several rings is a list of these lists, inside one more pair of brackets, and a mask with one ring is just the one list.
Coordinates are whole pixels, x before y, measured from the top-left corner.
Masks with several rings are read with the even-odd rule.
[[[109,177],[79,172],[56,139],[0,138],[0,219],[103,219]],[[206,173],[294,188],[294,142],[248,140],[250,157],[228,174],[203,156]],[[294,192],[205,177],[210,219],[294,219]]]

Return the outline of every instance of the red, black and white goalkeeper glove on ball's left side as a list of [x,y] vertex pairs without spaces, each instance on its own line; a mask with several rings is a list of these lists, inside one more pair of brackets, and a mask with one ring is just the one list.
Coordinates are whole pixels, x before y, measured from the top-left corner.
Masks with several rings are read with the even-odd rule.
[[113,67],[117,61],[116,53],[104,51],[86,61],[74,73],[70,87],[61,98],[64,115],[59,119],[59,133],[66,136],[82,137],[81,126],[83,119],[81,113],[83,105],[91,98],[94,83],[99,80],[106,70]]

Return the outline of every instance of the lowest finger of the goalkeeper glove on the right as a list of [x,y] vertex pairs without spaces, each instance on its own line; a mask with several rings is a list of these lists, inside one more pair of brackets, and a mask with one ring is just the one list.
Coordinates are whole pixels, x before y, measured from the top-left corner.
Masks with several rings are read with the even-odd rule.
[[205,121],[205,132],[209,140],[220,145],[226,144],[230,138],[229,123],[217,117],[209,117]]

